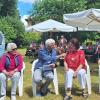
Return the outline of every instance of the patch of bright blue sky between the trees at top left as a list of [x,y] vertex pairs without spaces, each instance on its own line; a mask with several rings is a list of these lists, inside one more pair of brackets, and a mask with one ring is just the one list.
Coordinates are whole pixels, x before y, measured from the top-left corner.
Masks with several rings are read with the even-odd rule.
[[18,1],[18,10],[20,13],[20,16],[23,15],[29,15],[31,9],[32,9],[32,4],[34,3],[34,0],[19,0]]

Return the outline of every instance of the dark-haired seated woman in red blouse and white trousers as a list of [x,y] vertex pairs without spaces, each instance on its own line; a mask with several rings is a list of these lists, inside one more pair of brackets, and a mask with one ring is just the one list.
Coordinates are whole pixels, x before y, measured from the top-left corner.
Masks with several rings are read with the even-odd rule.
[[72,90],[72,81],[73,78],[78,78],[81,88],[82,88],[82,95],[84,97],[87,96],[85,91],[85,74],[86,74],[86,66],[85,66],[85,55],[82,50],[79,50],[79,41],[76,38],[72,38],[68,44],[68,51],[66,53],[64,59],[64,67],[66,73],[66,82],[65,82],[65,89],[66,89],[66,96],[64,100],[69,100],[72,98],[71,90]]

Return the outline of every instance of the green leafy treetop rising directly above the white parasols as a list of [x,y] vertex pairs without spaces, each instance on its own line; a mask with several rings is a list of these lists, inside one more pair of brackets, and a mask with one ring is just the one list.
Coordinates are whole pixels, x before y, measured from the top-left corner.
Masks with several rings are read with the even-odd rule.
[[84,10],[84,0],[42,0],[36,3],[36,11],[32,13],[35,21],[43,21],[46,19],[55,19],[62,21],[64,13],[71,13]]

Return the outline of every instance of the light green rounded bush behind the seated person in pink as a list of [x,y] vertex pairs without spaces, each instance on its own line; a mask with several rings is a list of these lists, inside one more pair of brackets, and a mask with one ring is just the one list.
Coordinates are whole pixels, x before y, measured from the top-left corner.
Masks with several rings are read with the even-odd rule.
[[10,16],[0,18],[0,31],[6,37],[6,43],[15,42],[18,46],[24,44],[24,26],[17,18]]

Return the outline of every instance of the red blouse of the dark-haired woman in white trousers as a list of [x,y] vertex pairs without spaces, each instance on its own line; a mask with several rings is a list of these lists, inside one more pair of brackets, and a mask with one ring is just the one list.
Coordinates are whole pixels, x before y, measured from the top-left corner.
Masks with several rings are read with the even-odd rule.
[[68,52],[64,61],[68,64],[68,68],[76,70],[80,64],[86,69],[85,65],[85,55],[82,50],[77,50],[75,52]]

